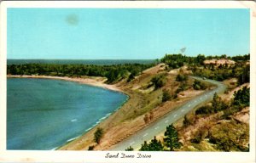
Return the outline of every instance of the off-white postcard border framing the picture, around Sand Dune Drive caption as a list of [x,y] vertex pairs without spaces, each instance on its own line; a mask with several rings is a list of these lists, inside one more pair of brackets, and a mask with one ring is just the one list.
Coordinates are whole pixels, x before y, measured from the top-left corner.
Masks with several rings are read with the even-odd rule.
[[[165,162],[255,162],[255,106],[256,106],[256,4],[253,1],[10,1],[1,3],[1,53],[0,53],[0,162],[93,162],[93,163],[165,163]],[[6,150],[6,54],[7,14],[6,8],[251,8],[251,106],[250,106],[250,152],[140,152],[151,155],[150,159],[106,159],[108,151],[15,151]],[[111,151],[116,154],[117,152]],[[138,152],[121,152],[137,155]]]

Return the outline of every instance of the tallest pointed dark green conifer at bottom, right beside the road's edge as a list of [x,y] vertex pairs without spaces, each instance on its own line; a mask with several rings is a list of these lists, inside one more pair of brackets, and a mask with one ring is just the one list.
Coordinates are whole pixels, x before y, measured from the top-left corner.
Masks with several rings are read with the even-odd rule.
[[182,146],[182,143],[179,142],[177,130],[173,125],[166,126],[164,142],[171,151]]

